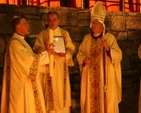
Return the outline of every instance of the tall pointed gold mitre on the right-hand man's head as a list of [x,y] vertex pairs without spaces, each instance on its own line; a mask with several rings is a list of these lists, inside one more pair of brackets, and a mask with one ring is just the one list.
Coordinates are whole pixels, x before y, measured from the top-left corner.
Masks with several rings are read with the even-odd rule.
[[96,2],[91,11],[90,27],[91,27],[92,22],[95,20],[104,24],[105,15],[106,15],[106,10],[103,4],[99,1]]

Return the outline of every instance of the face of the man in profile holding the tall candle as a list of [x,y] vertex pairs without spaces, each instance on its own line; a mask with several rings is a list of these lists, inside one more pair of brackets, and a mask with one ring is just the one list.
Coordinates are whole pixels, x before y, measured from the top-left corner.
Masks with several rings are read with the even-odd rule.
[[19,30],[20,35],[25,36],[25,35],[29,34],[29,25],[28,25],[26,19],[24,19],[24,18],[21,19],[20,24],[17,25],[17,29]]

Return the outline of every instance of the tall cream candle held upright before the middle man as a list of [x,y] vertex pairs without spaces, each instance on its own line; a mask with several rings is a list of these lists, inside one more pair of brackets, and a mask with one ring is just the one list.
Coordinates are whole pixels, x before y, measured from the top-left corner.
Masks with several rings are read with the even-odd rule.
[[[49,44],[53,44],[53,30],[49,30]],[[53,46],[51,46],[53,48]],[[53,64],[54,64],[54,56],[53,54],[50,55],[50,63],[49,63],[49,72],[50,76],[53,76]]]

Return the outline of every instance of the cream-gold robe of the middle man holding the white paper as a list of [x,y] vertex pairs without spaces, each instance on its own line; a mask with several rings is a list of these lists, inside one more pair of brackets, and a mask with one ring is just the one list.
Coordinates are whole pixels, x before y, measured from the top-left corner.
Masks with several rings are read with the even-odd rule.
[[[73,66],[74,45],[69,33],[66,30],[57,27],[53,30],[54,36],[62,36],[65,43],[66,56],[54,56],[53,76],[49,75],[49,67],[46,74],[41,73],[42,88],[45,97],[47,113],[69,113],[71,106],[71,91],[69,81],[68,66]],[[35,52],[45,50],[44,42],[49,39],[49,28],[43,30],[33,47]]]

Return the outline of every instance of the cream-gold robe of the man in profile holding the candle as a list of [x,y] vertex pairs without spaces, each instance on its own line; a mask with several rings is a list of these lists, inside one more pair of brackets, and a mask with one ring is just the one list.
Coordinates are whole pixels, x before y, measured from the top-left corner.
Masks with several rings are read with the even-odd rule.
[[6,49],[1,113],[46,113],[39,71],[49,57],[34,54],[23,38],[14,33]]

